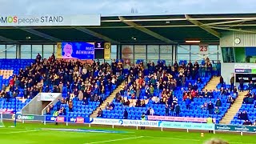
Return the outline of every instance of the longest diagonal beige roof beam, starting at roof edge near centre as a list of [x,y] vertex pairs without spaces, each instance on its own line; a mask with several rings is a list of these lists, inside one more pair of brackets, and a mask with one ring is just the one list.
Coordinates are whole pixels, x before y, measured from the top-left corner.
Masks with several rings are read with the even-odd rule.
[[154,37],[154,38],[158,38],[158,39],[161,40],[162,42],[166,42],[166,43],[168,43],[168,44],[177,43],[177,42],[171,41],[171,40],[168,39],[168,38],[163,37],[163,36],[160,35],[160,34],[155,33],[155,32],[152,31],[152,30],[148,30],[148,29],[146,29],[145,27],[138,27],[138,26],[140,26],[140,25],[138,25],[138,24],[136,24],[136,23],[134,23],[134,22],[125,22],[126,19],[123,18],[123,17],[120,17],[120,16],[119,16],[118,18],[121,20],[121,22],[126,23],[126,25],[128,25],[128,26],[133,26],[135,29],[142,31],[143,33],[149,34],[149,35],[151,35],[151,36]]

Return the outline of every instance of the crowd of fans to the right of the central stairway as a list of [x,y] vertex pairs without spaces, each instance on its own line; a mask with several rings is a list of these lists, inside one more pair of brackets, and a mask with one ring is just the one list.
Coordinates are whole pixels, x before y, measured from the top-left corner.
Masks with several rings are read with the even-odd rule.
[[[190,103],[194,98],[214,98],[212,90],[198,90],[198,85],[202,84],[200,76],[212,76],[213,68],[209,58],[206,58],[199,66],[198,62],[184,62],[178,65],[178,62],[174,62],[173,66],[166,66],[164,62],[158,62],[157,65],[154,62],[147,63],[148,76],[144,76],[142,73],[143,63],[140,62],[130,68],[131,80],[130,85],[122,85],[122,90],[116,94],[115,102],[121,102],[122,106],[135,106],[145,107],[145,99],[149,99],[148,103],[159,103],[166,106],[166,115],[179,115],[181,107],[178,105],[178,98],[174,96],[174,90],[177,87],[182,87],[183,101],[186,102],[186,108],[190,110]],[[220,70],[220,63],[218,62],[218,70]],[[136,81],[136,78],[137,81]],[[194,84],[188,83],[187,80],[196,80]],[[183,88],[188,87],[188,90]],[[143,95],[142,95],[143,94]],[[227,93],[226,93],[227,94]],[[130,102],[130,99],[136,99],[135,104]],[[232,100],[232,99],[231,99]],[[230,100],[230,101],[231,101]],[[229,101],[228,101],[229,102]],[[221,103],[214,105],[206,104],[209,114],[218,114],[218,107]],[[108,109],[110,110],[110,109]],[[153,110],[150,108],[150,110]],[[146,113],[149,114],[149,113]]]

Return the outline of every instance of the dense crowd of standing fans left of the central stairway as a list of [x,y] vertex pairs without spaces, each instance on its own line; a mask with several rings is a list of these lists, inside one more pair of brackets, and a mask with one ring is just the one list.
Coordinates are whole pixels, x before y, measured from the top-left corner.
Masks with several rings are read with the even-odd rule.
[[[66,98],[57,102],[59,113],[65,113],[61,104],[68,104],[70,111],[75,98],[87,105],[88,102],[103,102],[106,90],[112,90],[112,85],[119,85],[122,75],[122,62],[82,62],[79,60],[56,59],[54,54],[49,59],[42,59],[38,54],[36,61],[25,70],[10,79],[10,91],[2,86],[1,98],[34,98],[39,92],[65,93]],[[20,91],[22,90],[22,92]],[[18,95],[19,94],[19,95]],[[58,106],[59,105],[59,106]],[[50,106],[46,111],[53,110]]]

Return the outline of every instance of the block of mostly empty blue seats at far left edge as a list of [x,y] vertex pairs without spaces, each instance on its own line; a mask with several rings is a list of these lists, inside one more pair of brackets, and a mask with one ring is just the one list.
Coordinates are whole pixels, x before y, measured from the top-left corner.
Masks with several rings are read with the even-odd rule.
[[31,59],[0,59],[0,84],[2,85],[0,93],[0,111],[12,113],[15,109],[15,101],[17,111],[22,110],[30,99],[16,99],[14,97],[22,97],[23,90],[14,88],[17,82],[14,82],[14,77],[19,73],[19,70],[24,70],[26,66],[30,66],[34,60]]

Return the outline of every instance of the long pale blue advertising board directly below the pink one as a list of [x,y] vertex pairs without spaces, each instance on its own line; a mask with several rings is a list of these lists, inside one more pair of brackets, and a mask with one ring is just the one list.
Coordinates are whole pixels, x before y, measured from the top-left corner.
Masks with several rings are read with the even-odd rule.
[[214,123],[196,123],[196,122],[159,122],[159,126],[171,129],[188,130],[214,130]]

